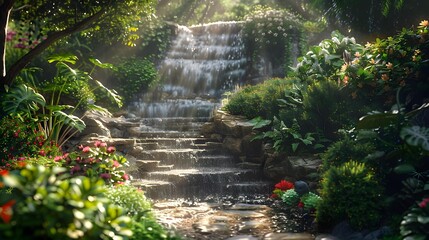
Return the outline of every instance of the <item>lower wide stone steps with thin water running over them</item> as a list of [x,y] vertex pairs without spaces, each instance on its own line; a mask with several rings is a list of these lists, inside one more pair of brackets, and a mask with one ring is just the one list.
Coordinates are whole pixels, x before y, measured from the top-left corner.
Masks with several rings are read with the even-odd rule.
[[133,131],[133,184],[152,199],[266,194],[272,183],[260,169],[240,167],[218,140],[203,137],[208,118],[171,117],[140,120]]

